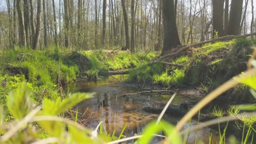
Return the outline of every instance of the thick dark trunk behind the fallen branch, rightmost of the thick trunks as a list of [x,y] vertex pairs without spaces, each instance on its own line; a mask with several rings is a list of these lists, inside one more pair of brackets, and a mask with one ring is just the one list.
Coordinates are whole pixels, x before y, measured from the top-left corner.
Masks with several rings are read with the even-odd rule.
[[232,0],[229,16],[228,35],[240,35],[243,0]]

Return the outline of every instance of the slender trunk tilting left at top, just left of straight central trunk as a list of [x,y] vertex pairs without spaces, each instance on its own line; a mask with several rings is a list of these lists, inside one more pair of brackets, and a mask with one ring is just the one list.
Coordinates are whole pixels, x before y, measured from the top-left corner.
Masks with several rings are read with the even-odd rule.
[[129,38],[129,26],[128,26],[128,18],[125,9],[125,0],[121,0],[123,15],[124,15],[124,25],[125,25],[125,41],[126,41],[126,49],[130,50],[130,38]]

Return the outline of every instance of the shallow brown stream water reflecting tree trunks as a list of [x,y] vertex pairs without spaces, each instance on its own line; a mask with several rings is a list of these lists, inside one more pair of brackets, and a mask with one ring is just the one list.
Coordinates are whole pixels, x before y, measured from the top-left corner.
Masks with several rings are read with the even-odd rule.
[[[123,77],[118,77],[122,79]],[[82,113],[82,118],[89,119],[86,127],[95,129],[98,123],[102,122],[103,130],[108,133],[115,131],[119,135],[121,130],[127,124],[124,135],[132,136],[142,132],[146,124],[159,115],[143,111],[143,106],[147,106],[150,100],[167,101],[171,95],[129,95],[120,97],[125,93],[139,92],[138,88],[126,87],[123,83],[113,79],[112,77],[104,77],[97,82],[80,81],[69,86],[71,92],[87,92],[95,93],[94,98],[83,101],[77,105],[79,113]],[[177,95],[173,103],[179,104],[189,98],[183,95]],[[81,116],[80,116],[81,117]],[[165,115],[166,121],[176,124],[181,117]],[[200,139],[207,139],[212,133],[211,130],[199,131]],[[208,135],[207,135],[208,134]],[[207,136],[204,136],[207,135]],[[196,136],[190,136],[188,140],[194,140]],[[202,138],[203,137],[203,138]],[[204,140],[207,142],[207,140]]]

